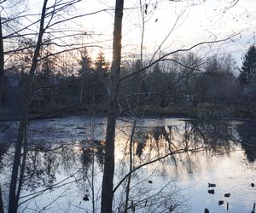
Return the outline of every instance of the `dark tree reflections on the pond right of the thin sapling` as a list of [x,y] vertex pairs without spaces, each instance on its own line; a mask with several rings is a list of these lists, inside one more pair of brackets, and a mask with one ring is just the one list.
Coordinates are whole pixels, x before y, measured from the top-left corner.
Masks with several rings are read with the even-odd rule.
[[[135,142],[137,158],[147,160],[164,155],[175,149],[184,149],[182,154],[172,155],[172,160],[187,167],[189,173],[196,167],[197,150],[206,156],[230,155],[238,147],[245,150],[247,159],[253,163],[256,155],[255,123],[231,124],[221,121],[190,120],[181,126],[157,126],[138,131]],[[204,147],[203,151],[201,147]],[[154,153],[152,152],[154,150]],[[194,150],[195,152],[188,152]],[[155,153],[157,152],[157,153]]]

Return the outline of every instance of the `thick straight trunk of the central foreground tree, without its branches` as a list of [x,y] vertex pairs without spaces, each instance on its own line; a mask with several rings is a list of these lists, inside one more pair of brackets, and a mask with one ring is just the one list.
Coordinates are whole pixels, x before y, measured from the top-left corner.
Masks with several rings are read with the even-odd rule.
[[117,95],[119,92],[119,74],[122,49],[121,39],[123,9],[124,0],[116,0],[113,26],[113,60],[110,72],[109,109],[106,134],[106,155],[102,180],[102,213],[112,212],[113,204],[114,137],[118,110]]

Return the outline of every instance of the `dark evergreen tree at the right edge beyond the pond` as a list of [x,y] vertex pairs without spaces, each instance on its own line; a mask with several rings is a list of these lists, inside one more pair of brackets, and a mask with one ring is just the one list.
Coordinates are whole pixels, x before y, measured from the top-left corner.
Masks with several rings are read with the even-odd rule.
[[240,81],[241,83],[249,83],[251,78],[256,74],[256,48],[251,46],[247,54],[244,56],[240,71]]

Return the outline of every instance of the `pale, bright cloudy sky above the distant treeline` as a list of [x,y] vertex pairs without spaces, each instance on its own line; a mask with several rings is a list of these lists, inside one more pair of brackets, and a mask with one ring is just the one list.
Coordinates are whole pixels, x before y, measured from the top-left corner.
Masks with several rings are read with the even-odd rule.
[[[39,13],[42,0],[29,1],[32,11]],[[151,58],[161,44],[161,52],[167,53],[237,34],[226,43],[207,45],[193,49],[193,52],[199,56],[231,54],[237,65],[241,66],[242,55],[250,45],[256,43],[256,1],[236,2],[237,0],[142,0],[143,5],[148,4],[143,40],[144,57]],[[83,43],[94,42],[102,47],[108,60],[112,57],[114,3],[114,0],[82,0],[64,14],[68,16],[110,9],[73,20],[65,26],[67,29],[96,33],[93,37],[83,37]],[[140,53],[143,18],[139,5],[139,0],[125,0],[122,39],[124,60],[134,58]],[[99,48],[90,48],[89,51],[95,57]]]

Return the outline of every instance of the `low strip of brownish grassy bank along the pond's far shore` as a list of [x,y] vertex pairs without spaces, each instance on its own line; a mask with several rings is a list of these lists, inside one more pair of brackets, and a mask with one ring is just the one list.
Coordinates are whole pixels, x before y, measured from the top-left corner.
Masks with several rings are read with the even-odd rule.
[[[32,111],[31,118],[60,118],[72,115],[107,116],[108,108],[102,105],[71,105],[44,111]],[[139,117],[150,118],[251,118],[256,119],[256,112],[241,109],[236,106],[201,104],[198,107],[179,105],[169,107],[143,106],[138,109]],[[128,115],[126,115],[128,116]],[[0,121],[19,120],[20,112],[3,109],[0,112]]]

